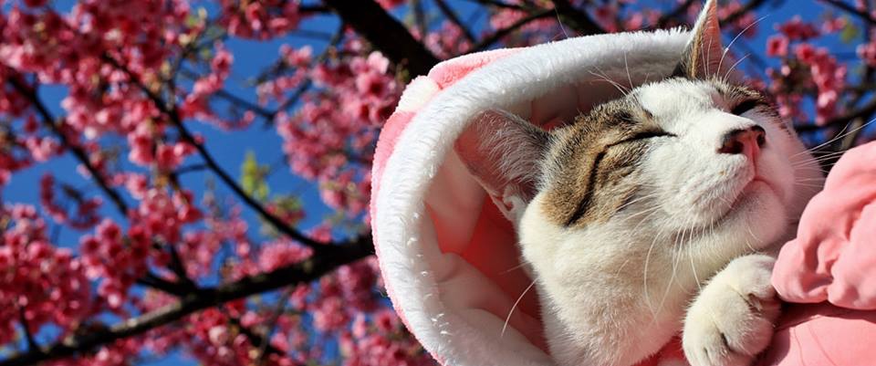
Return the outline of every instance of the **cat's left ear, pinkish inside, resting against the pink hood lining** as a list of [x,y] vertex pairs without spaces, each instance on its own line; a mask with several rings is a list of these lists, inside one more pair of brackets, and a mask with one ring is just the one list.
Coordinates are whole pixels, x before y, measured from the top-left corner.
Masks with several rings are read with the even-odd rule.
[[485,110],[468,123],[455,150],[499,210],[517,224],[536,193],[547,131],[505,110]]

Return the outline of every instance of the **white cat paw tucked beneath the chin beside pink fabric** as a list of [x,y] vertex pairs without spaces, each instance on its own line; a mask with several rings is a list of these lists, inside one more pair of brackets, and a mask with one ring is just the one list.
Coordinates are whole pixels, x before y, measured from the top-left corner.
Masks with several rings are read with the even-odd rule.
[[741,256],[705,285],[684,319],[682,344],[692,366],[745,366],[767,348],[779,310],[770,283],[775,262]]

